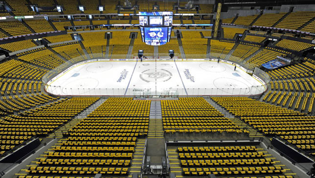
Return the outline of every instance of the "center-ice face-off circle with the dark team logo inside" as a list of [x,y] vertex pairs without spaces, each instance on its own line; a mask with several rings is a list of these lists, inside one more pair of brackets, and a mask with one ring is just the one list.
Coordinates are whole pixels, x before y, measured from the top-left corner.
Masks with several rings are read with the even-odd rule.
[[140,79],[145,82],[166,82],[172,78],[172,73],[165,69],[147,69],[141,72]]

